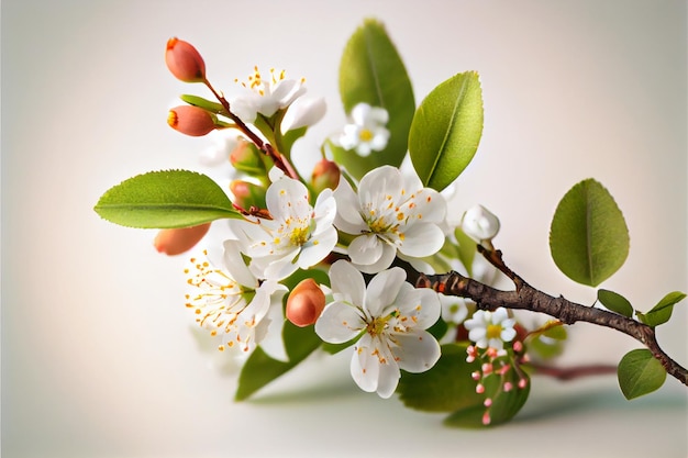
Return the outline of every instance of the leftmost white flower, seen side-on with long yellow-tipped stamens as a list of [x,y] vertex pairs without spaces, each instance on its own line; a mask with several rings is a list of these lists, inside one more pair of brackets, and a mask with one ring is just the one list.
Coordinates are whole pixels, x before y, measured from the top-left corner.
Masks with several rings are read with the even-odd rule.
[[224,243],[224,256],[215,266],[210,259],[191,259],[187,308],[197,323],[220,336],[220,350],[235,356],[251,354],[259,344],[271,357],[287,359],[281,344],[281,298],[287,288],[275,281],[259,282],[243,262],[236,241]]

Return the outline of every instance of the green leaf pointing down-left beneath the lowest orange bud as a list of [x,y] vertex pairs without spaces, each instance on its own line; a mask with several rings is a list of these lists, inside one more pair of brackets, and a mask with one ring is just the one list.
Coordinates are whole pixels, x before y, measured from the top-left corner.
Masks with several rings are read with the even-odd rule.
[[260,388],[295,368],[322,343],[313,326],[297,327],[290,322],[285,322],[282,337],[289,361],[278,361],[267,356],[260,347],[256,348],[238,376],[238,387],[234,394],[236,401],[248,399]]

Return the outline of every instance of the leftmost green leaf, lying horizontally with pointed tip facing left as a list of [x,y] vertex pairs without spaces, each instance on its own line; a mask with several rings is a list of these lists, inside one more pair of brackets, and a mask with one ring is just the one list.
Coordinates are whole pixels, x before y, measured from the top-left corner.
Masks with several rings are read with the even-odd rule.
[[106,191],[93,210],[112,223],[142,228],[242,217],[218,183],[188,170],[152,171],[124,180]]

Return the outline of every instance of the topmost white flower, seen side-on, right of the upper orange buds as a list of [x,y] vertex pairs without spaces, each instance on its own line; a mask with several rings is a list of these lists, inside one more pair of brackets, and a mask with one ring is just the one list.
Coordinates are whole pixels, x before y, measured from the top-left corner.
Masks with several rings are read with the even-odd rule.
[[286,79],[284,70],[276,71],[274,68],[270,69],[270,77],[266,81],[258,67],[255,67],[248,81],[241,83],[245,90],[232,100],[232,111],[242,121],[249,123],[256,120],[257,113],[269,118],[302,96],[306,92],[304,82],[303,78]]

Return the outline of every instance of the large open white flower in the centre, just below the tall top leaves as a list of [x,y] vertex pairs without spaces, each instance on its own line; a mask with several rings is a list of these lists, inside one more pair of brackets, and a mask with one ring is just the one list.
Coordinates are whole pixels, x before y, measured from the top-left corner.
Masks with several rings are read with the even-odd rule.
[[446,213],[444,199],[433,189],[423,188],[415,175],[402,176],[396,167],[382,166],[363,177],[358,194],[341,179],[334,197],[334,225],[356,236],[347,253],[364,272],[388,268],[397,252],[400,257],[422,258],[444,244],[439,226]]

